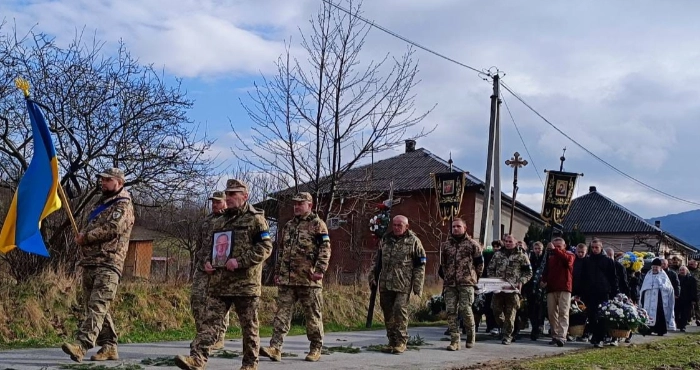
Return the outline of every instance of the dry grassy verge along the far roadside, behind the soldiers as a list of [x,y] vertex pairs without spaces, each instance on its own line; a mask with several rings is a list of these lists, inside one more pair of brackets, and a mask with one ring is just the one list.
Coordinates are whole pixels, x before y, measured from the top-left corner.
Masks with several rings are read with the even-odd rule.
[[[119,287],[110,312],[120,334],[120,343],[191,340],[194,321],[189,305],[189,285],[125,282]],[[427,288],[424,297],[439,288]],[[72,340],[81,320],[80,281],[74,277],[47,272],[17,285],[0,286],[0,349],[55,347]],[[260,335],[272,334],[277,310],[277,288],[263,287],[260,298]],[[425,299],[412,297],[412,318],[423,317]],[[369,289],[364,285],[324,287],[324,326],[326,332],[358,331],[364,328]],[[383,328],[377,304],[374,325]],[[297,305],[290,335],[305,333],[303,312]],[[414,323],[430,325],[431,323]],[[443,322],[433,323],[442,325]],[[227,338],[240,338],[235,314]]]

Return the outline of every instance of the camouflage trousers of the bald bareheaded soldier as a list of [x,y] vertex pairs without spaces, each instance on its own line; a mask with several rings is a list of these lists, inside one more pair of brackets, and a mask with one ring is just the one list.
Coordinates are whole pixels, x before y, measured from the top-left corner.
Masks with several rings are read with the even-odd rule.
[[380,291],[379,305],[384,314],[386,337],[389,346],[396,347],[408,342],[408,298],[410,293]]

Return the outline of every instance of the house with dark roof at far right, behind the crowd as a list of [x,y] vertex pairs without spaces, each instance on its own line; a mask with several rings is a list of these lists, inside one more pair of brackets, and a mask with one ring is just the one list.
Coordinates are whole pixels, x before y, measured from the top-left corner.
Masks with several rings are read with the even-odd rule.
[[571,202],[564,217],[563,229],[577,229],[586,236],[603,241],[605,247],[616,251],[654,252],[666,255],[696,255],[697,247],[687,243],[661,228],[660,221],[651,224],[614,200],[601,194],[595,186],[588,194]]

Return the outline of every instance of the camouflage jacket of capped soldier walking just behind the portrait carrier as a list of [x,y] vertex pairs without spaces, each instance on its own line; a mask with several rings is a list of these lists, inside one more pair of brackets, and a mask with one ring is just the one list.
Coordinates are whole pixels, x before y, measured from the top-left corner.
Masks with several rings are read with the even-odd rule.
[[284,225],[275,275],[279,276],[280,285],[321,287],[321,280],[312,281],[310,274],[325,273],[330,258],[326,223],[314,213],[296,216]]

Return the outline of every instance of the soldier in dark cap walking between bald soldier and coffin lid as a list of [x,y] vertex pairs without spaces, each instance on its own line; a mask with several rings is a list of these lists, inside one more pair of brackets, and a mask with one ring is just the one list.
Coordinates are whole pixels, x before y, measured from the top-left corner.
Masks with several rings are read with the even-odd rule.
[[459,349],[459,316],[464,320],[467,331],[466,347],[472,348],[475,341],[472,304],[474,287],[484,271],[483,248],[479,242],[467,235],[467,225],[460,218],[452,221],[452,235],[440,248],[440,268],[444,273],[443,288],[450,331],[450,345],[447,346],[447,350]]

